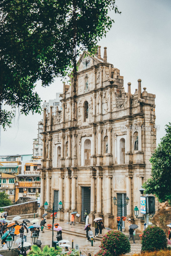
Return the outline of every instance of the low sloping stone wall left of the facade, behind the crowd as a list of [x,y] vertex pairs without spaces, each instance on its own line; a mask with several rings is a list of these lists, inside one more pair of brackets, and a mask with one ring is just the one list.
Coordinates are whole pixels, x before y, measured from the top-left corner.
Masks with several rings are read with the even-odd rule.
[[20,215],[20,214],[29,214],[36,213],[38,209],[37,200],[26,202],[23,204],[10,205],[7,207],[2,207],[4,212],[7,212],[7,215]]

